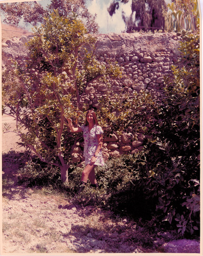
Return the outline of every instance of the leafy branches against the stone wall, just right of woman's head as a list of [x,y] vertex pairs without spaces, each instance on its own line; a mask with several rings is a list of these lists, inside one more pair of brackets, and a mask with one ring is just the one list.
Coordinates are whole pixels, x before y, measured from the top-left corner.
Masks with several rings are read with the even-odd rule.
[[159,108],[157,96],[145,90],[133,91],[131,94],[116,93],[112,96],[109,89],[105,97],[100,99],[100,109],[97,114],[100,123],[105,127],[105,135],[122,134],[125,131],[132,133],[137,139],[137,134],[145,133],[153,124],[153,113],[157,108]]

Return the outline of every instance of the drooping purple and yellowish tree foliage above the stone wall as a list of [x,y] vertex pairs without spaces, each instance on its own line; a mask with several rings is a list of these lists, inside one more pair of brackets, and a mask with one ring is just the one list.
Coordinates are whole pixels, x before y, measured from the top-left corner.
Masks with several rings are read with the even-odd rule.
[[[114,0],[107,8],[110,16],[116,15],[120,3],[129,0]],[[163,0],[132,0],[131,14],[122,12],[125,31],[167,30],[179,32],[182,29],[195,31],[199,23],[199,8],[197,0],[173,0],[166,5]]]

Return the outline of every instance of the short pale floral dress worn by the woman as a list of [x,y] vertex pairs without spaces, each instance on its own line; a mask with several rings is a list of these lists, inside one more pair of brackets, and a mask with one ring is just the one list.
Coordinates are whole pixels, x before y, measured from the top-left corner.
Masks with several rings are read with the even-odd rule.
[[[89,164],[91,162],[92,157],[95,154],[95,151],[97,149],[97,146],[99,144],[97,135],[103,134],[102,128],[99,125],[94,125],[91,131],[88,129],[88,125],[81,125],[80,126],[83,132],[84,137],[84,152],[83,156],[85,158],[85,165]],[[94,165],[104,165],[104,160],[102,157],[102,150],[100,150],[97,160],[94,163]]]

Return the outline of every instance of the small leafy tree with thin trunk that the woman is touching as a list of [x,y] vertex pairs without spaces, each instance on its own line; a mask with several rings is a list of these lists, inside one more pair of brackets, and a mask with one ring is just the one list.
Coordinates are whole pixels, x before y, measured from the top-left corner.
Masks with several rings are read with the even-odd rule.
[[[41,161],[60,167],[64,182],[70,160],[66,153],[70,141],[64,143],[65,118],[81,118],[85,109],[81,94],[89,82],[118,76],[120,71],[97,61],[96,39],[86,34],[75,15],[66,18],[57,10],[35,29],[28,48],[28,60],[15,62],[15,79],[4,84],[5,93],[9,86],[14,92],[6,105],[16,117],[22,145],[31,148]],[[7,69],[4,80],[8,72],[14,71]]]

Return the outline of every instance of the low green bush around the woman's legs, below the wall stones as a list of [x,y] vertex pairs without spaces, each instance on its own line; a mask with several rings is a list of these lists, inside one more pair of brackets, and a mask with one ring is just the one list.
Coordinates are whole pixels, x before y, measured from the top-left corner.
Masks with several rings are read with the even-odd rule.
[[[105,166],[96,168],[99,189],[91,188],[89,181],[81,194],[75,196],[80,183],[82,168],[73,168],[67,191],[75,202],[110,209],[119,215],[150,220],[155,205],[144,198],[138,184],[141,177],[140,168],[145,165],[144,153],[122,155],[112,158]],[[150,206],[150,207],[149,207]]]

